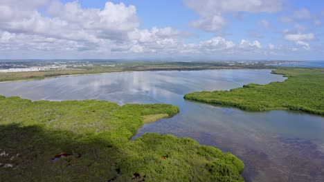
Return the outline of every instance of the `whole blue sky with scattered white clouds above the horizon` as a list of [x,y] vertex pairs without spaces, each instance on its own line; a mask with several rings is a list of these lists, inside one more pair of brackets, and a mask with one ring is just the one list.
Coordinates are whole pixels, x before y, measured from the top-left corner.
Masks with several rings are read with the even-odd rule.
[[323,0],[0,0],[0,59],[321,60]]

